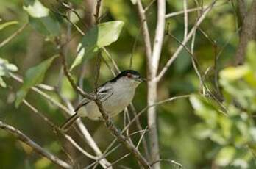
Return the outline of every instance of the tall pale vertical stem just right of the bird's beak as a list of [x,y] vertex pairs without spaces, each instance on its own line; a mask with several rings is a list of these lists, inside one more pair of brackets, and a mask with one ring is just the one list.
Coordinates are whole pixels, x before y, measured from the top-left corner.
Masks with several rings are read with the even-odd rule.
[[[166,24],[166,0],[157,1],[157,27],[154,35],[154,47],[152,51],[152,62],[148,65],[148,105],[157,101],[157,82],[154,79],[157,76],[160,54],[163,46],[163,37]],[[149,125],[149,146],[151,162],[160,159],[158,134],[157,134],[157,111],[155,107],[148,109],[148,125]],[[155,163],[152,168],[159,169],[160,163]]]

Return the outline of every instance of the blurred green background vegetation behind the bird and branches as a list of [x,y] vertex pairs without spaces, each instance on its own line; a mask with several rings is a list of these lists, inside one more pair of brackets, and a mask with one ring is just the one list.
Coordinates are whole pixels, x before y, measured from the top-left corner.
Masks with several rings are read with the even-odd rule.
[[[24,76],[25,72],[43,60],[46,60],[58,52],[54,44],[54,36],[68,35],[68,22],[56,12],[65,12],[58,1],[41,1],[42,4],[51,9],[46,22],[41,18],[33,18],[26,12],[26,7],[34,1],[0,1],[0,42],[13,34],[23,24],[29,22],[26,28],[17,35],[10,43],[0,48],[0,61],[7,60],[12,63],[9,71],[15,71],[13,67],[18,68],[18,75]],[[90,26],[88,18],[90,9],[86,1],[70,1],[82,19]],[[203,5],[210,4],[210,0],[201,1]],[[200,3],[201,3],[200,2]],[[143,1],[144,7],[150,3],[149,0]],[[250,1],[248,1],[248,4]],[[188,8],[196,7],[195,1],[188,1]],[[167,0],[166,13],[179,11],[183,9],[182,1]],[[54,12],[53,12],[54,11]],[[140,71],[146,76],[146,57],[144,54],[143,37],[141,35],[141,24],[138,18],[137,7],[131,1],[104,0],[102,4],[102,20],[106,21],[124,21],[124,26],[118,40],[107,46],[113,59],[117,62],[121,70],[129,68],[130,58],[132,57],[132,69]],[[149,24],[149,33],[153,39],[156,24],[157,3],[154,2],[149,10],[146,11],[146,17]],[[189,29],[193,27],[198,13],[189,12]],[[10,23],[17,21],[17,23]],[[85,26],[82,21],[71,15],[71,21],[77,24],[82,30]],[[46,24],[45,24],[46,23]],[[183,15],[177,15],[167,18],[166,32],[177,37],[182,41],[184,35]],[[208,36],[205,37],[202,32],[196,32],[194,45],[194,55],[196,56],[202,72],[207,68],[213,67],[215,62],[214,44],[216,42],[218,52],[218,82],[223,102],[216,99],[200,95],[202,89],[199,87],[199,78],[196,76],[191,64],[191,57],[185,50],[179,54],[177,60],[168,69],[158,87],[157,99],[163,100],[172,96],[185,94],[195,94],[190,98],[182,98],[171,101],[157,107],[157,124],[160,139],[160,156],[165,159],[174,159],[181,163],[184,168],[256,168],[256,128],[255,128],[255,87],[256,87],[256,47],[255,43],[249,43],[246,64],[240,67],[232,67],[236,47],[238,45],[238,29],[241,25],[241,16],[235,1],[217,1],[216,7],[207,15],[200,28]],[[77,56],[77,46],[82,40],[82,35],[77,32],[74,26],[69,26],[71,40],[67,48],[67,60],[70,66]],[[163,43],[163,51],[160,59],[160,69],[166,63],[169,57],[179,46],[176,40],[166,35]],[[191,46],[188,43],[187,46]],[[105,57],[105,53],[102,52]],[[111,62],[108,61],[111,65]],[[4,63],[6,64],[6,63]],[[82,66],[83,65],[83,66]],[[74,79],[78,81],[81,72],[83,72],[84,89],[93,90],[95,77],[96,57],[87,57],[82,65],[78,65],[72,71]],[[12,67],[13,66],[13,67]],[[60,79],[61,62],[60,58],[54,60],[46,72],[43,84],[57,86]],[[84,70],[84,71],[83,71]],[[0,69],[1,71],[1,69]],[[15,108],[15,94],[21,87],[21,84],[8,77],[7,74],[0,73],[4,82],[0,87],[0,120],[15,126],[27,134],[36,143],[43,148],[57,154],[62,159],[67,159],[63,148],[71,153],[79,167],[83,168],[93,162],[87,157],[76,151],[69,143],[65,143],[53,132],[38,115],[35,115],[21,104]],[[102,62],[100,83],[113,77],[107,66]],[[1,79],[0,79],[1,81]],[[6,84],[6,86],[4,85]],[[209,90],[216,95],[216,86],[214,84],[214,70],[205,76],[205,84]],[[78,102],[77,93],[71,88],[67,79],[63,78],[60,85],[60,93],[75,106]],[[54,93],[46,91],[52,98],[65,104],[60,97]],[[29,91],[26,96],[34,107],[49,117],[58,126],[65,121],[63,112],[54,105],[50,104],[44,98],[33,91]],[[141,84],[138,88],[133,101],[135,108],[139,111],[146,106],[146,84]],[[114,119],[115,124],[120,128],[123,126],[123,116],[118,115]],[[104,123],[82,119],[85,126],[93,135],[94,140],[99,147],[104,150],[113,140],[113,136],[104,126]],[[146,127],[146,112],[140,118],[143,128]],[[130,132],[135,132],[135,125]],[[80,143],[82,140],[74,132],[69,132],[75,140]],[[147,138],[147,137],[146,137]],[[136,142],[139,135],[132,137]],[[82,146],[93,154],[88,145]],[[149,148],[150,149],[150,148]],[[143,148],[141,148],[143,152]],[[127,153],[124,147],[118,148],[110,154],[107,159],[112,162]],[[125,165],[129,168],[138,168],[133,157],[118,162],[114,168],[121,168]],[[177,168],[167,162],[163,162],[163,168]],[[16,140],[15,137],[0,130],[0,168],[57,168],[48,159],[40,157],[26,145]],[[100,168],[100,167],[99,167]]]

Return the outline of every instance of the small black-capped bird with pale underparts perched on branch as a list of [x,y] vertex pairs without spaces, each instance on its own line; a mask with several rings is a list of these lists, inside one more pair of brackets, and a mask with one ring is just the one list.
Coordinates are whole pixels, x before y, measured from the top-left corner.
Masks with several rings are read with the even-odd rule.
[[[136,88],[143,81],[145,79],[138,71],[126,70],[98,87],[96,94],[110,117],[118,115],[129,105],[135,95]],[[91,93],[91,95],[95,95],[95,93]],[[102,113],[97,104],[88,98],[83,98],[74,112],[74,115],[61,126],[63,131],[67,131],[79,117],[88,117],[91,120],[102,119]]]

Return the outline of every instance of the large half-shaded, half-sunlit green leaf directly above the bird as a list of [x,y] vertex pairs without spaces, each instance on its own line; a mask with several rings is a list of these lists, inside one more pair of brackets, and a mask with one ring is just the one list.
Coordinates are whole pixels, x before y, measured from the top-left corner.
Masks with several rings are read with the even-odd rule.
[[82,38],[82,46],[78,46],[78,54],[71,65],[71,69],[79,65],[85,55],[92,56],[99,51],[99,48],[109,46],[118,40],[121,29],[124,26],[122,21],[110,21],[94,26]]

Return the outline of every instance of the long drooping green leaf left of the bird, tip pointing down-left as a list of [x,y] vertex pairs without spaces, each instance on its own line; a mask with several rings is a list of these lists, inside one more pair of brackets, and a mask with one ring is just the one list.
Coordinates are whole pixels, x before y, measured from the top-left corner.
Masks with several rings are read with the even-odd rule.
[[36,65],[33,68],[29,68],[25,73],[24,84],[21,86],[21,89],[18,90],[15,107],[18,107],[21,104],[21,101],[26,97],[26,94],[29,92],[29,88],[35,86],[36,84],[40,84],[43,81],[44,75],[51,65],[51,62],[57,56],[51,57],[48,60],[41,62],[39,65]]

